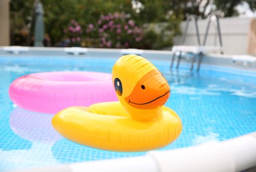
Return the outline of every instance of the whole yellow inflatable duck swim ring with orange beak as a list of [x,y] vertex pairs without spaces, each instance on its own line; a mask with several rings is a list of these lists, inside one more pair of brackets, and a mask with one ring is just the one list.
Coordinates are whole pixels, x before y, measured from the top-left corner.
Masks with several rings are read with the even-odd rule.
[[154,150],[178,138],[181,120],[163,106],[170,87],[153,64],[122,56],[112,80],[119,101],[65,108],[52,118],[55,130],[78,144],[111,151]]

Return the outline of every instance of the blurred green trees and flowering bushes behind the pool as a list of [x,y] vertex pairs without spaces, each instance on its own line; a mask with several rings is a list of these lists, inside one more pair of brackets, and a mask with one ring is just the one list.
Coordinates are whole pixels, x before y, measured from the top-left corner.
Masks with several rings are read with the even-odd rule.
[[[11,0],[11,45],[32,46],[34,0]],[[255,0],[41,0],[44,46],[162,50],[180,34],[186,14],[237,16],[237,5]]]

